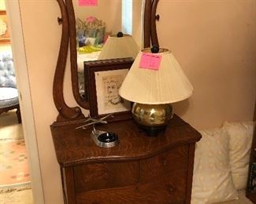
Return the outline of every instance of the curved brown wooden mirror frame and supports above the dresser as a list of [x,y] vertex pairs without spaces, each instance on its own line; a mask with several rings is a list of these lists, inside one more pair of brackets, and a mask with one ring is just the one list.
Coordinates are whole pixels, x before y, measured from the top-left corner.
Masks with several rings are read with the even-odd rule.
[[[77,53],[76,53],[76,18],[72,0],[57,0],[61,9],[61,17],[58,17],[58,23],[62,25],[61,45],[58,53],[58,61],[54,73],[54,104],[59,115],[57,122],[69,122],[85,118],[81,108],[89,109],[89,103],[79,92],[78,74],[77,74]],[[156,9],[159,0],[144,0],[143,16],[143,47],[150,45],[158,46],[158,35],[156,29]],[[63,82],[68,51],[70,50],[70,68],[72,80],[72,93],[76,103],[80,107],[69,107],[64,100]]]

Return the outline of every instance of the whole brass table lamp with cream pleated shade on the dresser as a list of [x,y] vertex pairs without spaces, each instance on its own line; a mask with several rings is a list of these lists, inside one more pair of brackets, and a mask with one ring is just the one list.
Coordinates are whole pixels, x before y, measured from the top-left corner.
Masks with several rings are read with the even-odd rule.
[[[158,67],[152,67],[156,64],[155,59]],[[145,63],[146,67],[143,67]],[[173,117],[172,103],[191,97],[192,91],[193,87],[173,53],[168,49],[154,48],[139,52],[119,94],[134,102],[132,115],[135,122],[148,135],[154,136],[165,129]]]

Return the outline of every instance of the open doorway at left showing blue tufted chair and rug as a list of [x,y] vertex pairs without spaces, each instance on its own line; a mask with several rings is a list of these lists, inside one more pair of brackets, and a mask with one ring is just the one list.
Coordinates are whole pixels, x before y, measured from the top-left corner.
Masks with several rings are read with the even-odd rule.
[[0,3],[0,202],[32,204],[6,5]]

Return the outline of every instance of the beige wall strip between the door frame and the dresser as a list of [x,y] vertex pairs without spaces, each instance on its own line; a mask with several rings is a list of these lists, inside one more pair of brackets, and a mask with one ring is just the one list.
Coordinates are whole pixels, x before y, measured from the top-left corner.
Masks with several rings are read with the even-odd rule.
[[[50,124],[58,115],[52,87],[61,40],[61,26],[57,21],[60,9],[57,1],[20,1],[20,14],[45,203],[59,204],[63,203],[61,176]],[[70,82],[65,82],[65,86],[70,87]],[[72,96],[69,92],[66,91],[66,97]]]

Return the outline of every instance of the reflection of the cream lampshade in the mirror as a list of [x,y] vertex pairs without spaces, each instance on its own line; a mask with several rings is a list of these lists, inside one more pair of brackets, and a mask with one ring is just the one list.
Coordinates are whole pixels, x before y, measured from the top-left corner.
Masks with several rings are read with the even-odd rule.
[[124,34],[123,37],[117,35],[109,35],[98,60],[117,59],[132,57],[135,59],[139,53],[139,47],[131,35]]

